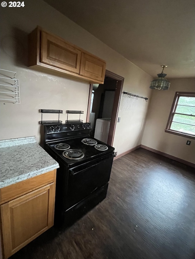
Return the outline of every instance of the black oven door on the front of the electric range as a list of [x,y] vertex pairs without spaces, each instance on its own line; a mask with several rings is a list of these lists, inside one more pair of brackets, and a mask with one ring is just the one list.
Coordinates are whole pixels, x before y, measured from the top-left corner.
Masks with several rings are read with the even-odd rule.
[[110,179],[113,154],[69,170],[67,207],[87,198]]

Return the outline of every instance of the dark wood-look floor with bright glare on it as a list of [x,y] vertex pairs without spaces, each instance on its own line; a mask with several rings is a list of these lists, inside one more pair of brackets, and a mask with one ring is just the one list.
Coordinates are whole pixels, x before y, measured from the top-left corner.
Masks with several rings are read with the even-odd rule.
[[113,162],[104,201],[11,259],[194,259],[195,170],[139,148]]

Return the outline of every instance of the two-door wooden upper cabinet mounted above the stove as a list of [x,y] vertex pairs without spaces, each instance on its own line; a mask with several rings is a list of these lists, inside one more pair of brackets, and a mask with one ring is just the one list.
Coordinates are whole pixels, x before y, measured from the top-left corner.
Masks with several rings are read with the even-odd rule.
[[29,34],[28,66],[90,83],[104,83],[106,63],[38,26]]

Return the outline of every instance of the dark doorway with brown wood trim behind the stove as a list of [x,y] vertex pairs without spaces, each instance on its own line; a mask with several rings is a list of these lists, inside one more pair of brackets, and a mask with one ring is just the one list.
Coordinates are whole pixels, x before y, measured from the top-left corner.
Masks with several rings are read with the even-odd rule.
[[124,78],[106,70],[104,84],[90,84],[87,121],[91,135],[108,145],[113,144]]

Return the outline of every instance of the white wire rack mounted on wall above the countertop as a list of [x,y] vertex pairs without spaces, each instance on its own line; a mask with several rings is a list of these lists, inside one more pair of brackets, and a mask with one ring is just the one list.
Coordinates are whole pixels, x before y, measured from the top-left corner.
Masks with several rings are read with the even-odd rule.
[[16,72],[0,69],[0,74],[12,76],[0,76],[0,100],[12,101],[13,104],[20,104],[19,80],[16,79]]

